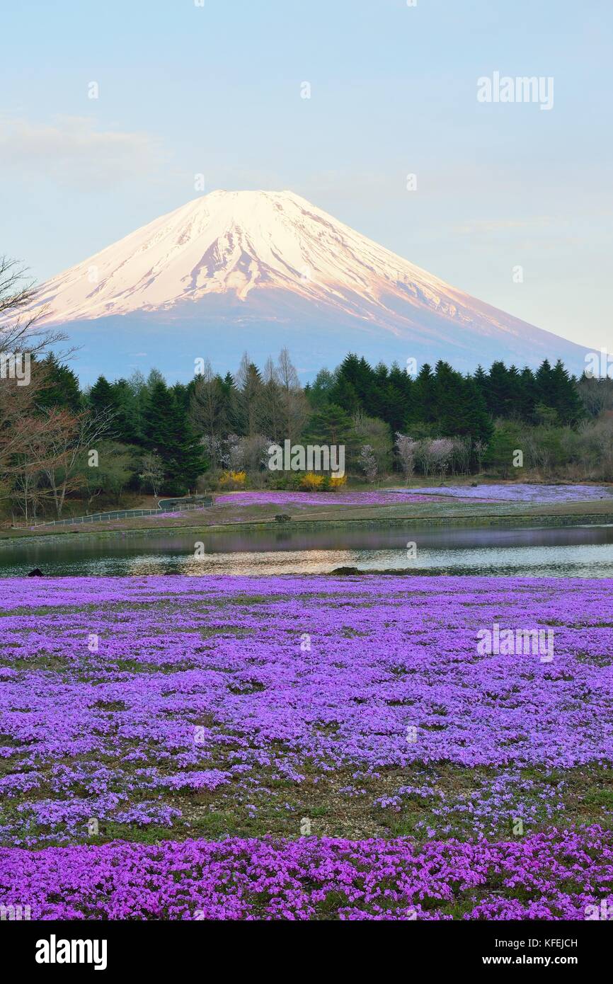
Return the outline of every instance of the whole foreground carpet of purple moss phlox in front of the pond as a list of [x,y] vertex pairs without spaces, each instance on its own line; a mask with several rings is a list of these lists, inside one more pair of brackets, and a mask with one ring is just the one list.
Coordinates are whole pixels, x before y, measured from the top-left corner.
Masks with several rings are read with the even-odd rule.
[[[582,918],[613,902],[612,601],[606,580],[2,581],[0,904]],[[479,651],[494,625],[553,632],[553,659]]]

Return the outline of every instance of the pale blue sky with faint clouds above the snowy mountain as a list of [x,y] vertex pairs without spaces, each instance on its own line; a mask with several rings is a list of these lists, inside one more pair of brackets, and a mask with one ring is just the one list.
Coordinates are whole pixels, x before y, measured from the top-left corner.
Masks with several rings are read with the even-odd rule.
[[[29,0],[2,20],[0,252],[35,277],[195,198],[203,172],[206,191],[291,189],[613,344],[611,0]],[[479,103],[494,71],[552,76],[553,109]]]

